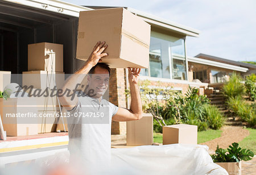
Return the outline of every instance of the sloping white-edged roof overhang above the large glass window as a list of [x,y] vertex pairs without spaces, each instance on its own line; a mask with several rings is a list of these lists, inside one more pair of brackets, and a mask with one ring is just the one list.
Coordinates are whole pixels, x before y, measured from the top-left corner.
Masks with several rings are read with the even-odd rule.
[[[90,9],[108,9],[108,8],[116,8],[116,7],[108,7],[108,6],[86,6],[89,7]],[[196,30],[191,27],[183,26],[179,23],[171,22],[170,20],[162,19],[159,18],[158,16],[147,14],[146,12],[142,12],[139,10],[132,9],[130,7],[123,7],[133,14],[139,16],[142,18],[144,21],[149,23],[151,27],[156,27],[159,30],[165,30],[165,31],[170,31],[174,32],[179,35],[183,36],[195,36],[199,37],[200,31]]]

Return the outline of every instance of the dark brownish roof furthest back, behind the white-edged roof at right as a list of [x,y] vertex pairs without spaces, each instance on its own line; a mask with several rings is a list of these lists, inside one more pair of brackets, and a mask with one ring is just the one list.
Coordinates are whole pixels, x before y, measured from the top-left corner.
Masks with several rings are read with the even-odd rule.
[[222,63],[226,63],[226,64],[230,64],[230,65],[241,66],[243,68],[248,68],[248,69],[256,69],[256,65],[253,65],[253,64],[248,64],[245,62],[233,61],[233,60],[228,60],[228,59],[222,59],[220,57],[206,55],[204,53],[200,53],[199,55],[196,55],[195,57],[198,57],[200,59],[205,59],[205,60],[222,62]]

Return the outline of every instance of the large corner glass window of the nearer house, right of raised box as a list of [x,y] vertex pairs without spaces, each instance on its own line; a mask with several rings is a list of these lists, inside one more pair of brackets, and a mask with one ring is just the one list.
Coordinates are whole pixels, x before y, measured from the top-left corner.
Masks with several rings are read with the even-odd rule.
[[143,76],[187,80],[184,39],[151,32],[149,57]]

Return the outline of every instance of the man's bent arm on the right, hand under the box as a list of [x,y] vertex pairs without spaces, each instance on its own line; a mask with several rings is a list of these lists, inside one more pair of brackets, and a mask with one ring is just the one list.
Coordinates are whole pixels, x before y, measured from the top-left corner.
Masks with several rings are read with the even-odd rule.
[[142,118],[142,102],[138,86],[140,72],[141,69],[129,68],[128,78],[130,83],[131,107],[130,109],[119,107],[117,114],[115,114],[112,118],[113,120],[118,122],[126,122],[130,120],[139,120]]

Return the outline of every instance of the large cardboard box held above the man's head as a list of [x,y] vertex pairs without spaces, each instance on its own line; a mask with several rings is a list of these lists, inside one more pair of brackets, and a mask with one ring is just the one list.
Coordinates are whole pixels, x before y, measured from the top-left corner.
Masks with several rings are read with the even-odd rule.
[[76,58],[86,61],[97,41],[106,41],[110,68],[148,68],[150,24],[119,8],[80,11]]

